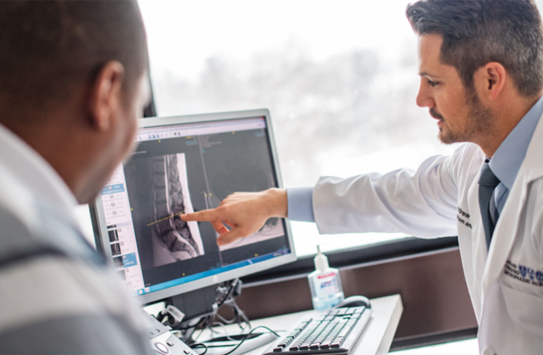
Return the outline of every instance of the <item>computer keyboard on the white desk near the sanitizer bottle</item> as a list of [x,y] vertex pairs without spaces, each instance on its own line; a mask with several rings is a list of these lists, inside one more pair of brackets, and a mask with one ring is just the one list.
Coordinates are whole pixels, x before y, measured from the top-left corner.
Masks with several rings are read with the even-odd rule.
[[371,309],[343,307],[313,312],[263,353],[272,354],[347,354],[364,331]]

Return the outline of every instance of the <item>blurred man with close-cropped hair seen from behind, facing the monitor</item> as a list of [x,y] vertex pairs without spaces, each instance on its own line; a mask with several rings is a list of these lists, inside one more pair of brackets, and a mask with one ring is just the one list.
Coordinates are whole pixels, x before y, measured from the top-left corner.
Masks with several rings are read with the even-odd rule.
[[137,5],[0,2],[0,53],[0,353],[148,353],[73,215],[129,153],[149,100]]

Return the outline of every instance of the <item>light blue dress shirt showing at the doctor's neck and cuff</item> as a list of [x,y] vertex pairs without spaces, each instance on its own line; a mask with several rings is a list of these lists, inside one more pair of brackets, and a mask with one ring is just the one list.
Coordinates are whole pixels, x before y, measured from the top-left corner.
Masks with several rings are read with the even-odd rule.
[[[509,190],[513,187],[516,175],[519,173],[522,161],[526,157],[528,145],[532,140],[535,126],[539,122],[543,112],[543,97],[532,106],[522,117],[520,122],[500,144],[496,153],[490,159],[490,169],[500,179],[500,183],[494,190],[494,200],[491,210],[497,207],[501,213],[505,205]],[[313,214],[313,187],[287,188],[288,219],[314,222]],[[492,216],[495,215],[491,211]]]

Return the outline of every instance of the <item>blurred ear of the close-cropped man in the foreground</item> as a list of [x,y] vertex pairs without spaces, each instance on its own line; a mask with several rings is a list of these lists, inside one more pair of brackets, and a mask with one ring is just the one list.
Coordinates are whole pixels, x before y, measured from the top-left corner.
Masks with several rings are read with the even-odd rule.
[[92,85],[89,100],[91,125],[100,130],[107,130],[115,115],[113,112],[122,104],[122,84],[124,67],[118,61],[107,62],[98,72]]

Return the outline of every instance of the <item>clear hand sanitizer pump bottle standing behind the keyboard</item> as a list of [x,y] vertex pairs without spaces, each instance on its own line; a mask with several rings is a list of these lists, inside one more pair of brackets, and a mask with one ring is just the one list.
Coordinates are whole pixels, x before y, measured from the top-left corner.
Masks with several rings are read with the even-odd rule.
[[313,308],[315,310],[332,308],[344,297],[339,271],[329,266],[328,259],[320,252],[319,245],[317,245],[317,255],[313,261],[315,262],[315,271],[307,275]]

